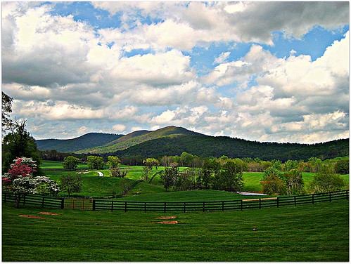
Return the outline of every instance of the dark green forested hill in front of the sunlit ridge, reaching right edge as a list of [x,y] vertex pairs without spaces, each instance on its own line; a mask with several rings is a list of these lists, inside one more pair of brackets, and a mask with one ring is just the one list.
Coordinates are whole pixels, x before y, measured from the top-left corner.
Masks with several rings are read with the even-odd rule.
[[[349,154],[349,140],[334,140],[328,143],[305,145],[297,143],[259,143],[229,137],[174,136],[148,140],[125,150],[109,153],[120,157],[143,156],[163,157],[188,152],[199,157],[229,158],[256,157],[262,160],[304,159],[318,157],[322,160],[344,157]],[[108,154],[106,154],[108,155]]]

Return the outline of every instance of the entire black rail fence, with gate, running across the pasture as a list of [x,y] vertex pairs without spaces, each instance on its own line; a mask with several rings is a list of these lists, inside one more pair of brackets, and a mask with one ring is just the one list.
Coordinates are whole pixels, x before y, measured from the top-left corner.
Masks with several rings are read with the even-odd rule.
[[[190,211],[233,211],[245,209],[264,209],[267,207],[298,206],[300,204],[315,204],[319,202],[333,202],[341,199],[349,199],[349,190],[324,192],[318,194],[305,194],[297,196],[267,197],[255,199],[241,199],[217,202],[122,202],[106,199],[86,199],[89,206],[85,206],[84,201],[80,201],[83,206],[77,206],[79,199],[72,204],[75,199],[70,199],[70,203],[64,198],[44,197],[39,195],[27,194],[22,197],[20,204],[30,204],[41,207],[51,207],[57,209],[83,209],[93,211],[162,211],[162,212],[190,212]],[[15,202],[15,195],[11,192],[3,192],[2,200]],[[82,200],[82,199],[81,199]],[[73,202],[74,203],[74,202]]]

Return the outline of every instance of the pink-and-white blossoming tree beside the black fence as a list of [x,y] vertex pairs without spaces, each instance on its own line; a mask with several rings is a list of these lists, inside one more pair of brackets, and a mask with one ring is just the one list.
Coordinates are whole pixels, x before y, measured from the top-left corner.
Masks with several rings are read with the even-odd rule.
[[3,189],[15,193],[15,207],[20,207],[20,199],[24,194],[57,194],[60,187],[46,176],[34,177],[37,164],[31,158],[20,157],[13,160],[8,173],[2,178]]

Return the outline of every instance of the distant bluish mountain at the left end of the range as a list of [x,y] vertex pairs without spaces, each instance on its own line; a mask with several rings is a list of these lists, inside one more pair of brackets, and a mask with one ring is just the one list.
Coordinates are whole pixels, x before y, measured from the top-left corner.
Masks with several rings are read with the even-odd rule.
[[87,133],[72,139],[35,140],[39,150],[57,150],[58,152],[77,152],[78,150],[105,145],[124,135],[108,133]]

